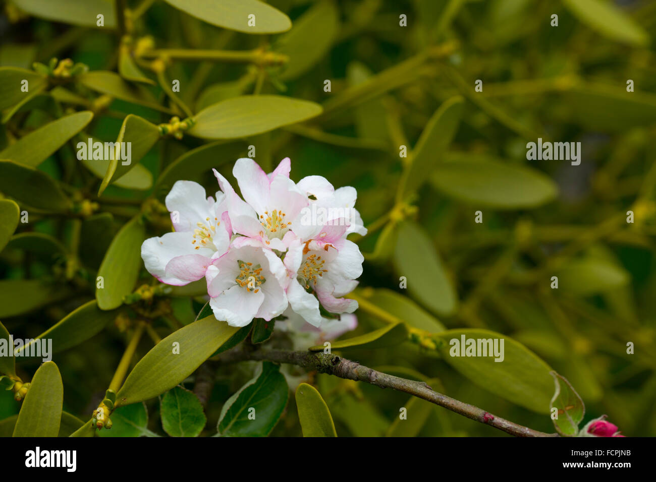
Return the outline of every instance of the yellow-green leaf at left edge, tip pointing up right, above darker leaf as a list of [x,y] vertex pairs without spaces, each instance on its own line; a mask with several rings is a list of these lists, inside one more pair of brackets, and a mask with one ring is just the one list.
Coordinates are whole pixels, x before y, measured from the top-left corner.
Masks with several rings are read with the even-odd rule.
[[84,129],[92,118],[92,112],[83,111],[47,123],[0,152],[0,159],[11,159],[22,165],[37,167]]

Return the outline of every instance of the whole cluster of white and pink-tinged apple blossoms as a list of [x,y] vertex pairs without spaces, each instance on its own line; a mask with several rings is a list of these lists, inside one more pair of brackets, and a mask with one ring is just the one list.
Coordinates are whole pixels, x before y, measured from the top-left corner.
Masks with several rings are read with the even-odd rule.
[[253,159],[237,159],[232,174],[241,197],[216,170],[215,197],[196,182],[176,182],[165,201],[174,231],[144,241],[146,269],[167,285],[205,277],[216,319],[234,327],[286,310],[327,327],[319,305],[328,313],[355,311],[358,302],[344,296],[358,285],[364,260],[346,239],[367,232],[354,208],[357,192],[336,190],[321,176],[295,183],[290,171],[289,157],[270,174]]

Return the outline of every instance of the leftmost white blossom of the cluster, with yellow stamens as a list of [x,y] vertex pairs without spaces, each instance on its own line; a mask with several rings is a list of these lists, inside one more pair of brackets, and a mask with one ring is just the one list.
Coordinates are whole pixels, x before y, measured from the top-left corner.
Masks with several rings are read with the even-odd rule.
[[146,270],[167,285],[186,285],[205,276],[213,258],[228,251],[230,219],[225,195],[205,197],[197,182],[177,181],[166,197],[175,231],[146,239],[141,257]]

